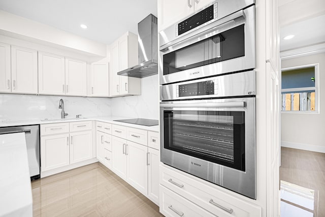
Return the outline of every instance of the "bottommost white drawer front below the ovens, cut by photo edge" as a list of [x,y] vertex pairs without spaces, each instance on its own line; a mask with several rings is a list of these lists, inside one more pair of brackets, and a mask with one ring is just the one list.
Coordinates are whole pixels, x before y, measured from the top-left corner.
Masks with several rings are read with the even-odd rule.
[[211,216],[215,217],[212,213],[204,210],[200,206],[186,200],[185,198],[175,194],[164,186],[160,186],[160,208],[159,211],[165,216],[175,217],[197,217],[197,216]]

